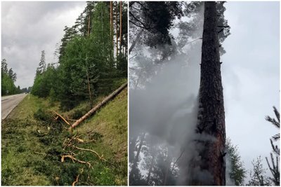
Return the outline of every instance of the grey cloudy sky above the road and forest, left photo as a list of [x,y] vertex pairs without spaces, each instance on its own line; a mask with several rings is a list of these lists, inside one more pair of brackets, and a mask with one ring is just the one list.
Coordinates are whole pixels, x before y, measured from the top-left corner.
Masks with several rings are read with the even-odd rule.
[[6,58],[18,79],[15,85],[33,85],[45,50],[46,62],[55,61],[55,44],[65,26],[72,26],[86,2],[1,2],[1,59]]

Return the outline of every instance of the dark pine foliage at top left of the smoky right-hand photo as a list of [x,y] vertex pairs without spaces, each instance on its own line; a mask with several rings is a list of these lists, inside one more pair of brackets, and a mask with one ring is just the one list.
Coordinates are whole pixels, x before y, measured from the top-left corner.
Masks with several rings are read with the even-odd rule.
[[183,16],[182,2],[131,1],[130,4],[129,19],[132,28],[145,29],[145,44],[155,48],[158,45],[171,45],[169,29],[174,25],[176,18],[180,19]]

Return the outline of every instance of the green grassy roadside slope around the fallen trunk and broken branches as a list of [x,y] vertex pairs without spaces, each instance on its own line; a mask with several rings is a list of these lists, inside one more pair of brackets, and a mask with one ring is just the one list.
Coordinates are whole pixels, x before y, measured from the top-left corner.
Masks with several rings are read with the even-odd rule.
[[[72,112],[81,108],[83,105]],[[99,160],[91,152],[70,148],[63,150],[63,141],[67,137],[70,139],[72,134],[61,122],[35,119],[34,113],[38,109],[58,111],[58,105],[51,107],[47,101],[28,95],[2,121],[2,185],[70,186],[77,175],[79,181],[76,185],[126,185],[127,90],[73,132],[85,142],[89,141],[76,146],[92,149],[108,162]],[[45,113],[51,115],[50,112]],[[70,113],[60,112],[63,116]],[[69,159],[60,162],[61,155],[70,152],[76,154],[75,158],[79,160],[91,162],[92,168]]]

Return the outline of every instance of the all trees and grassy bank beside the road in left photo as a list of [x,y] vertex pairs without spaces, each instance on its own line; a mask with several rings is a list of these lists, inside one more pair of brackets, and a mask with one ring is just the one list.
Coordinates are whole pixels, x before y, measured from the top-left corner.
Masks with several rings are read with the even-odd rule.
[[[55,54],[37,67],[31,94],[2,121],[4,186],[127,185],[127,5],[89,1]],[[35,72],[34,72],[35,73]]]

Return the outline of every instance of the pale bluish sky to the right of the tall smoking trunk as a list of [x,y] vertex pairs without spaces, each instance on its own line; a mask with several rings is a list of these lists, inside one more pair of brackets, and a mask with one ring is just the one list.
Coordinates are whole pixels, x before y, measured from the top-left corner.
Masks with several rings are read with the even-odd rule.
[[280,95],[279,2],[228,2],[231,35],[221,61],[227,136],[239,147],[247,169],[259,155],[270,157],[270,137],[278,130],[264,118],[275,117]]

